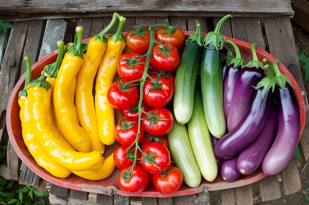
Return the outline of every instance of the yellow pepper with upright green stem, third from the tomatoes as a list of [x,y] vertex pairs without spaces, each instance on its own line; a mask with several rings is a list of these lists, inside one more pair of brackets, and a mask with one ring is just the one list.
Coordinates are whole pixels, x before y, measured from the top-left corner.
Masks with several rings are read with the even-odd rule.
[[83,28],[76,28],[74,46],[64,56],[53,91],[53,106],[56,121],[64,138],[80,152],[92,150],[86,131],[79,125],[74,104],[76,76],[83,59],[80,51]]

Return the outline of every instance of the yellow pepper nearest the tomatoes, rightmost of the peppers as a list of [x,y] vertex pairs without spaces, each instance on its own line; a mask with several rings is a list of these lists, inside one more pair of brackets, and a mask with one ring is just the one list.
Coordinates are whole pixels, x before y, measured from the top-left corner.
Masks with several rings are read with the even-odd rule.
[[98,120],[99,137],[103,144],[112,145],[115,138],[114,108],[107,100],[107,91],[112,85],[117,72],[117,61],[125,47],[125,39],[121,34],[125,17],[119,18],[116,32],[108,38],[107,49],[99,65],[95,84],[95,110]]

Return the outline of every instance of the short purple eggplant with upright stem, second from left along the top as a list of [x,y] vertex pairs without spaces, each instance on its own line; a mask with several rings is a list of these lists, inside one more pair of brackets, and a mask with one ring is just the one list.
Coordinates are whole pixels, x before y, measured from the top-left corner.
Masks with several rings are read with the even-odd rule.
[[256,92],[253,86],[256,86],[264,77],[264,66],[257,58],[255,45],[253,43],[251,49],[253,59],[239,71],[235,81],[230,109],[226,118],[228,131],[232,131],[244,117]]

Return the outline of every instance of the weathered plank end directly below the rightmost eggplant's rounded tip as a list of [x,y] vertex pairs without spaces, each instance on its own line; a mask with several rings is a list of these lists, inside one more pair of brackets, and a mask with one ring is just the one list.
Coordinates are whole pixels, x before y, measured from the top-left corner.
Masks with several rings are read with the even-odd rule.
[[281,198],[281,190],[276,175],[266,176],[258,181],[262,201],[271,201]]

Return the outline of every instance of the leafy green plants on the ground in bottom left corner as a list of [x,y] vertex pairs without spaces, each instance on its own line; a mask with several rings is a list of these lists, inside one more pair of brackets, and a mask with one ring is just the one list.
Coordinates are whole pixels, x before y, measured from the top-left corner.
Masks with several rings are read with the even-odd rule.
[[[0,153],[0,165],[7,165],[8,135],[4,135]],[[0,176],[0,205],[48,205],[48,191],[40,193],[29,185],[20,185],[18,181],[10,181]]]

